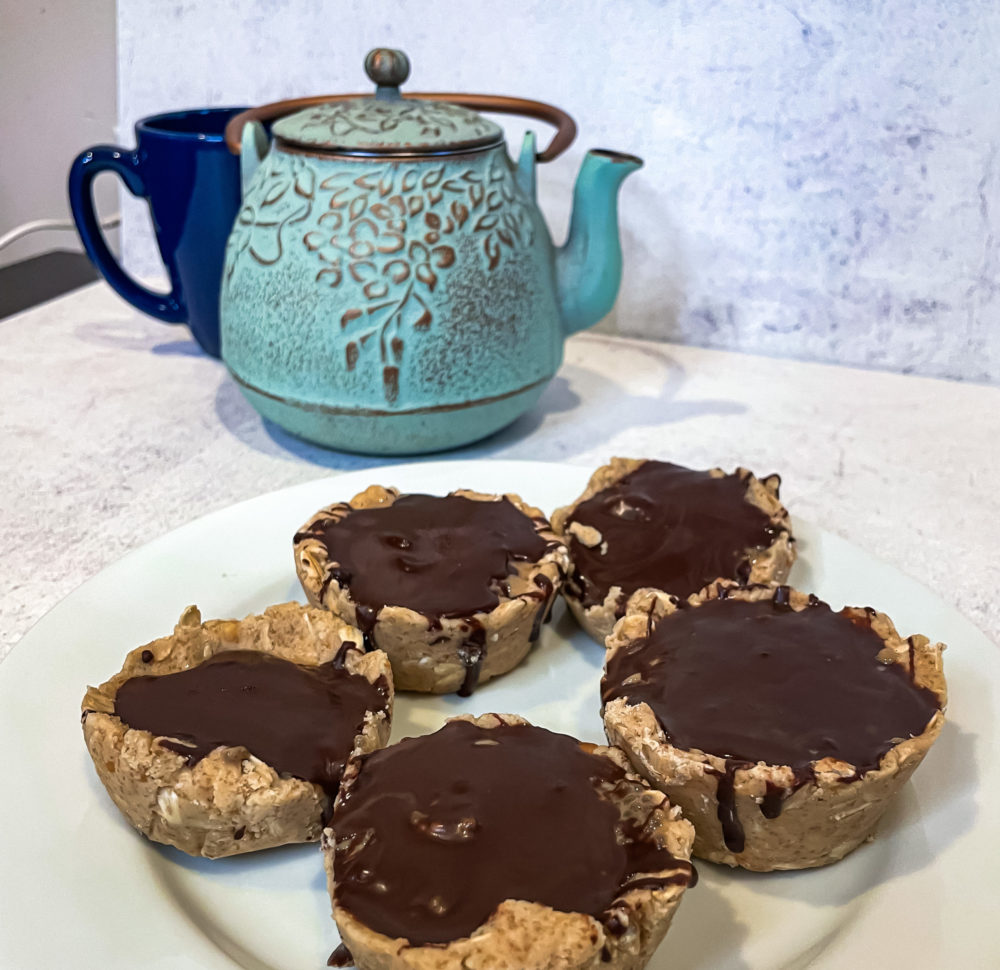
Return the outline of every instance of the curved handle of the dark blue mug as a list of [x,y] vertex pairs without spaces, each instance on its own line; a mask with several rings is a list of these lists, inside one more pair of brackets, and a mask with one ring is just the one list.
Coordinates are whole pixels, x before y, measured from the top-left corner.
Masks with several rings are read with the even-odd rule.
[[94,210],[92,185],[94,178],[101,172],[114,172],[132,195],[146,197],[138,152],[130,152],[115,145],[95,145],[80,152],[69,170],[69,204],[83,248],[122,299],[164,323],[183,323],[187,320],[187,311],[177,295],[176,287],[169,293],[156,293],[136,283],[108,248]]

